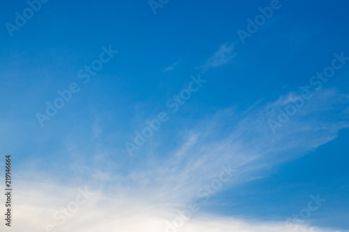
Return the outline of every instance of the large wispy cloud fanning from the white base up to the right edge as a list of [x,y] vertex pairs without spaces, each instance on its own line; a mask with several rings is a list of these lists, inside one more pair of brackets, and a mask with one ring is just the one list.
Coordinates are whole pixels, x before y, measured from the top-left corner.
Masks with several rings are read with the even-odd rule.
[[[281,99],[287,99],[290,94]],[[191,201],[200,200],[198,190],[217,178],[223,164],[230,164],[236,170],[229,183],[223,186],[222,190],[225,190],[261,178],[262,171],[281,162],[306,155],[334,139],[341,128],[349,126],[346,119],[348,111],[341,107],[349,105],[348,95],[336,89],[324,89],[283,130],[272,134],[267,118],[273,113],[273,107],[283,102],[258,101],[244,115],[233,109],[218,111],[210,119],[198,123],[197,127],[182,132],[184,142],[172,153],[161,155],[158,160],[146,159],[141,166],[133,167],[124,174],[91,167],[83,169],[85,172],[80,175],[84,176],[84,180],[89,179],[89,183],[76,185],[94,186],[91,190],[96,194],[77,215],[62,225],[61,230],[165,231],[167,222],[177,217],[176,210],[185,208]],[[222,131],[229,133],[222,137]],[[18,216],[14,231],[40,231],[47,223],[57,223],[52,221],[54,212],[62,207],[62,203],[64,206],[64,201],[68,202],[75,196],[71,187],[40,187],[38,191],[29,185],[38,186],[28,182],[17,187]],[[28,201],[28,193],[35,196],[33,201]],[[28,214],[33,216],[29,219]],[[205,212],[198,212],[181,228],[181,231],[204,232],[231,230],[293,231],[293,228],[285,222],[256,222],[207,215]],[[334,230],[303,225],[297,231]]]

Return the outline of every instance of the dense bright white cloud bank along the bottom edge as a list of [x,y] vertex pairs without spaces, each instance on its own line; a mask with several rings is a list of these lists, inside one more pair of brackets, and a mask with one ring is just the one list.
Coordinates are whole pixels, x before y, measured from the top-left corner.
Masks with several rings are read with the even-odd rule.
[[[27,186],[28,187],[28,186]],[[54,193],[47,190],[37,190],[28,187],[27,190],[17,190],[12,231],[45,231],[46,226],[54,226],[57,231],[95,232],[334,232],[331,229],[320,229],[308,225],[290,225],[285,222],[261,222],[257,220],[237,219],[208,215],[198,212],[188,221],[176,224],[174,219],[180,218],[176,209],[165,204],[144,201],[147,196],[140,198],[124,194],[103,194],[95,192],[93,196],[82,204],[77,212],[66,217],[64,224],[53,219],[55,212],[66,208],[74,201],[78,192],[68,187],[53,187]],[[64,194],[62,194],[64,193]],[[29,199],[33,201],[29,201]],[[171,223],[177,230],[168,229]],[[182,226],[180,226],[182,225]],[[3,224],[1,224],[1,227]],[[172,227],[176,229],[175,227]],[[168,230],[167,230],[168,229]],[[54,231],[54,230],[52,230]]]

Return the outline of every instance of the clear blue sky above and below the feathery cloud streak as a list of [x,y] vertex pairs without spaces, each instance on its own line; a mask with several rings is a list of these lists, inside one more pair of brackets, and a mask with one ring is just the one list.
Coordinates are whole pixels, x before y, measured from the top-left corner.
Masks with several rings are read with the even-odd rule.
[[[269,3],[171,0],[154,15],[147,1],[50,0],[13,38],[1,26],[0,153],[13,153],[18,171],[37,169],[62,183],[67,176],[81,178],[76,164],[126,174],[145,160],[166,157],[181,143],[181,131],[216,111],[242,112],[258,100],[265,104],[290,91],[299,93],[312,75],[331,64],[334,52],[349,56],[349,3],[344,0],[281,1],[280,10],[243,45],[237,29],[246,31],[246,19]],[[3,25],[13,23],[15,12],[26,7],[25,1],[3,1]],[[223,44],[233,44],[235,58],[202,71]],[[83,84],[78,70],[109,45],[119,53]],[[173,70],[165,71],[174,63]],[[158,153],[140,148],[129,157],[124,142],[142,130],[147,118],[169,111],[168,98],[199,74],[207,83],[147,141],[147,146],[156,144]],[[346,65],[324,87],[348,94],[348,77]],[[45,102],[53,102],[71,82],[81,91],[40,127],[36,113],[44,112]],[[342,109],[348,111],[348,105]],[[97,137],[95,124],[101,130]],[[218,134],[228,133],[234,121],[227,124]],[[265,136],[272,137],[271,131]],[[311,216],[313,224],[349,229],[348,137],[343,129],[308,155],[263,169],[263,178],[224,190],[205,210],[286,219],[306,206],[309,194],[320,193],[327,202]],[[83,159],[67,152],[74,149],[71,144],[80,145],[76,149]],[[98,162],[94,153],[102,148],[112,152]]]

